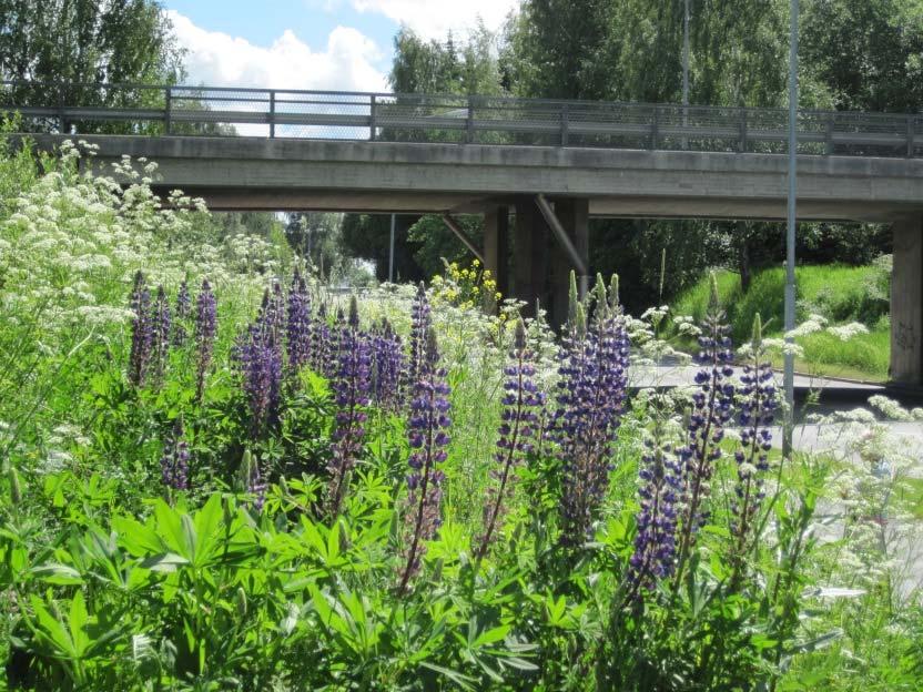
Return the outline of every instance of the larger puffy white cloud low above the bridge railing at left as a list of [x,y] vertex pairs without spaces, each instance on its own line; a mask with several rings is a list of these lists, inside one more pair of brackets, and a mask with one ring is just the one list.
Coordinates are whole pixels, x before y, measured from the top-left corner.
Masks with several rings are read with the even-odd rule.
[[323,51],[312,51],[285,30],[272,45],[196,27],[187,17],[169,12],[176,39],[187,53],[187,83],[209,86],[261,86],[385,91],[387,79],[375,63],[382,53],[356,29],[336,27]]

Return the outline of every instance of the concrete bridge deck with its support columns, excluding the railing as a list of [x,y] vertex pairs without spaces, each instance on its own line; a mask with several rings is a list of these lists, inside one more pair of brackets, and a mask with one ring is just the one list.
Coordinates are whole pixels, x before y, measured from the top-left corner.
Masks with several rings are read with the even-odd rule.
[[[38,138],[52,147],[60,136]],[[155,189],[214,210],[478,213],[503,293],[559,320],[571,269],[588,274],[588,220],[782,220],[780,154],[266,140],[85,136],[94,165],[128,154],[160,164]],[[923,160],[799,156],[798,216],[891,223],[891,377],[923,386]],[[510,217],[515,218],[510,227]],[[450,216],[449,216],[450,218]],[[508,263],[509,234],[515,256]],[[508,265],[511,276],[506,275]]]

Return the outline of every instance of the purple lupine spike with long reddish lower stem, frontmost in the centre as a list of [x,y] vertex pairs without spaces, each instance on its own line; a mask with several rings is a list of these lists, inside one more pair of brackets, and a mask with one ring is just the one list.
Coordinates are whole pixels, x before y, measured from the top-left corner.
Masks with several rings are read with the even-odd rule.
[[409,495],[404,511],[405,558],[398,591],[404,593],[410,578],[419,571],[424,541],[436,536],[442,525],[443,471],[437,468],[446,460],[449,436],[449,387],[446,372],[439,367],[436,333],[430,327],[422,348],[422,362],[410,416],[407,421],[407,439],[410,444],[410,474],[407,476]]

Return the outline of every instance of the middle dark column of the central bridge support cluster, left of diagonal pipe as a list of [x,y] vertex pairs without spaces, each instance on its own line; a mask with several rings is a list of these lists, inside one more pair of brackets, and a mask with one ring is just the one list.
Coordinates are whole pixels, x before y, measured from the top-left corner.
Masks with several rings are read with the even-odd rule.
[[536,299],[548,306],[545,293],[548,256],[548,226],[532,197],[516,201],[514,228],[513,293],[525,301],[524,316],[535,315]]

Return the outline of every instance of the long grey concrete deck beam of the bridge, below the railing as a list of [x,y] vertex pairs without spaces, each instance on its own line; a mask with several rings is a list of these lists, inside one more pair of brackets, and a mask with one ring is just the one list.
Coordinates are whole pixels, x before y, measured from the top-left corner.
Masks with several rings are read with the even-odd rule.
[[[62,139],[36,136],[45,149]],[[442,212],[475,211],[481,204],[483,212],[486,204],[540,192],[587,197],[590,215],[597,216],[785,215],[782,154],[260,138],[82,139],[100,146],[94,165],[106,166],[122,154],[146,156],[160,164],[164,187],[183,189],[216,206],[246,190],[235,208],[328,210],[336,204],[341,211],[399,206]],[[923,214],[921,159],[803,155],[798,169],[799,217],[804,221]]]

